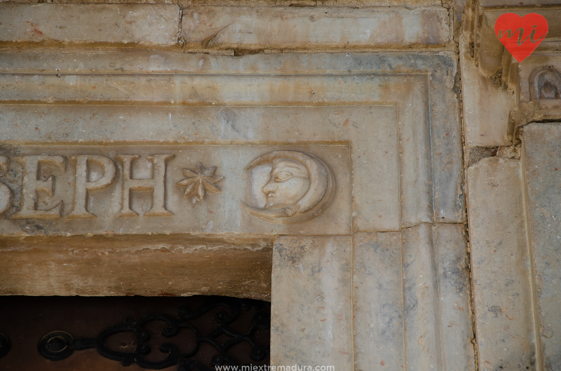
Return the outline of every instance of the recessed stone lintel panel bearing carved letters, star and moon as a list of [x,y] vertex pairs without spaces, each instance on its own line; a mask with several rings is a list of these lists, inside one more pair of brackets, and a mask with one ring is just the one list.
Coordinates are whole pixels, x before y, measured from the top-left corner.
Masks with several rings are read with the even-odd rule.
[[29,146],[4,158],[17,200],[6,234],[34,234],[29,220],[56,235],[351,231],[348,145]]

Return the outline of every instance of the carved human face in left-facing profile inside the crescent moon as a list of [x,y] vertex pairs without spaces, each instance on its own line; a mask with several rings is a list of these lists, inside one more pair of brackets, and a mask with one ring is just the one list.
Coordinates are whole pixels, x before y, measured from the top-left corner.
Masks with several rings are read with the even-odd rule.
[[290,206],[304,197],[310,187],[306,166],[291,159],[275,159],[271,178],[262,188],[267,194],[265,210]]

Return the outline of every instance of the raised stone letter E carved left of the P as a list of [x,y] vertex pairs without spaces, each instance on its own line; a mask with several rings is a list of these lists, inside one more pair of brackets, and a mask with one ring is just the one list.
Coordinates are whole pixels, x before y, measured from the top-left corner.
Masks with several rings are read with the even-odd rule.
[[60,219],[62,200],[50,210],[37,210],[37,194],[45,192],[50,197],[53,197],[54,176],[51,175],[46,180],[40,180],[41,165],[55,165],[57,168],[65,171],[65,157],[33,155],[16,156],[12,157],[12,159],[23,166],[24,179],[20,211],[10,216],[10,219]]

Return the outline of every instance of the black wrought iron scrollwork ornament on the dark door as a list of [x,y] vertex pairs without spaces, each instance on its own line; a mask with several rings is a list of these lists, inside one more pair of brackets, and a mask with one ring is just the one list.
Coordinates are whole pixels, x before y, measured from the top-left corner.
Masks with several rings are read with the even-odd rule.
[[[264,312],[256,312],[251,318],[252,327],[249,332],[242,334],[232,330],[228,324],[236,321],[240,316],[240,312],[249,310],[259,310],[266,302],[252,299],[228,298],[225,296],[211,296],[211,299],[200,305],[194,310],[188,310],[187,307],[181,306],[178,309],[178,317],[168,316],[162,313],[147,314],[137,321],[131,318],[125,318],[122,323],[108,327],[102,331],[96,338],[73,337],[70,333],[62,331],[54,331],[45,335],[39,342],[38,350],[44,358],[57,361],[70,356],[75,350],[97,349],[99,354],[105,358],[121,361],[123,366],[130,366],[134,363],[145,369],[159,370],[173,365],[178,365],[177,371],[211,371],[206,365],[199,361],[189,359],[197,353],[201,343],[206,342],[213,346],[217,354],[211,358],[211,364],[219,366],[224,363],[228,365],[237,365],[236,359],[226,352],[232,346],[241,342],[248,342],[251,345],[250,358],[254,361],[261,361],[269,354],[269,346],[256,344],[253,339],[255,331],[270,327],[270,317]],[[218,327],[206,336],[200,336],[197,329],[187,323],[192,319],[198,318],[209,310],[217,307],[228,309],[228,314],[221,310],[214,314],[214,321],[218,323]],[[163,321],[167,324],[162,330],[162,336],[170,338],[176,336],[181,328],[188,328],[195,333],[195,345],[193,349],[185,354],[181,354],[176,345],[164,343],[160,346],[160,351],[168,353],[165,359],[160,361],[149,361],[145,359],[145,355],[150,353],[150,346],[147,344],[150,334],[144,329],[144,326],[153,321]],[[124,353],[109,349],[105,345],[105,340],[111,335],[121,332],[132,332],[136,338],[136,349],[132,353]],[[224,343],[220,343],[217,337],[227,335],[230,337]]]

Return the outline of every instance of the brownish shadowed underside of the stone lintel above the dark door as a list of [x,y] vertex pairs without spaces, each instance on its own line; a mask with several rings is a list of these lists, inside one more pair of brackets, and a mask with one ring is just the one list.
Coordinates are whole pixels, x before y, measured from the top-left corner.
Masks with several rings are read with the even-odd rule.
[[[29,228],[39,228],[30,222]],[[271,242],[182,235],[3,238],[0,295],[270,298]]]

